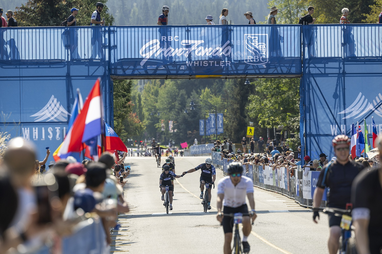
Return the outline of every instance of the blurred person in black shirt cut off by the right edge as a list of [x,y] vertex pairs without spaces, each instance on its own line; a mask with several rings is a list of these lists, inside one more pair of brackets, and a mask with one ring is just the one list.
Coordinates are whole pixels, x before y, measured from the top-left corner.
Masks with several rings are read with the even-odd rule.
[[[382,151],[382,143],[378,142]],[[382,154],[379,154],[382,161]],[[353,225],[359,254],[382,253],[382,168],[363,170],[351,187]]]

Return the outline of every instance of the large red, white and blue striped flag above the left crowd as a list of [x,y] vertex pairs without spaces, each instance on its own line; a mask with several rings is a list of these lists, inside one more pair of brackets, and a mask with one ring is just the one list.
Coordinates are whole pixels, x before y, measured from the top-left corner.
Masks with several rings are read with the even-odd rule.
[[[80,152],[83,150],[83,143],[91,146],[97,152],[97,141],[103,133],[104,117],[103,117],[102,97],[100,93],[100,79],[97,79],[92,90],[90,91],[84,103],[81,113],[74,120],[66,135],[58,156],[70,152]],[[91,155],[95,155],[91,152]]]

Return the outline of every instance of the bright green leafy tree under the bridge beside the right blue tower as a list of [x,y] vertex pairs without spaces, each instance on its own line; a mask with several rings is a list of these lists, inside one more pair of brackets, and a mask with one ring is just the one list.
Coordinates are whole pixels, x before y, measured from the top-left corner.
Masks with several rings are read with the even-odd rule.
[[263,128],[283,125],[293,132],[299,125],[299,79],[259,79],[249,96],[248,114]]

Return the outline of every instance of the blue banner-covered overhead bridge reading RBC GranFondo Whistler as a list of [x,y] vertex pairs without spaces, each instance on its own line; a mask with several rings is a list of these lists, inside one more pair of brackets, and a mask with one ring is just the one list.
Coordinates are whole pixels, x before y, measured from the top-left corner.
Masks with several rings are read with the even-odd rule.
[[39,147],[62,142],[97,77],[110,124],[113,79],[299,77],[303,153],[332,155],[363,118],[382,129],[378,24],[11,27],[0,42],[0,131]]

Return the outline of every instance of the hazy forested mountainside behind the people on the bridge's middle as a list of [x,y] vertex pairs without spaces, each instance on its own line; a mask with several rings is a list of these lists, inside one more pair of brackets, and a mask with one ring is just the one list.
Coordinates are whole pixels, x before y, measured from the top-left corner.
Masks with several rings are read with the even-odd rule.
[[[108,6],[115,17],[115,25],[156,25],[162,6],[168,5],[169,25],[206,24],[206,16],[212,15],[215,24],[219,23],[219,16],[223,8],[228,8],[228,22],[232,24],[248,24],[243,15],[251,11],[254,19],[262,20],[264,13],[269,12],[267,0],[108,0]],[[197,9],[195,6],[202,6]]]

